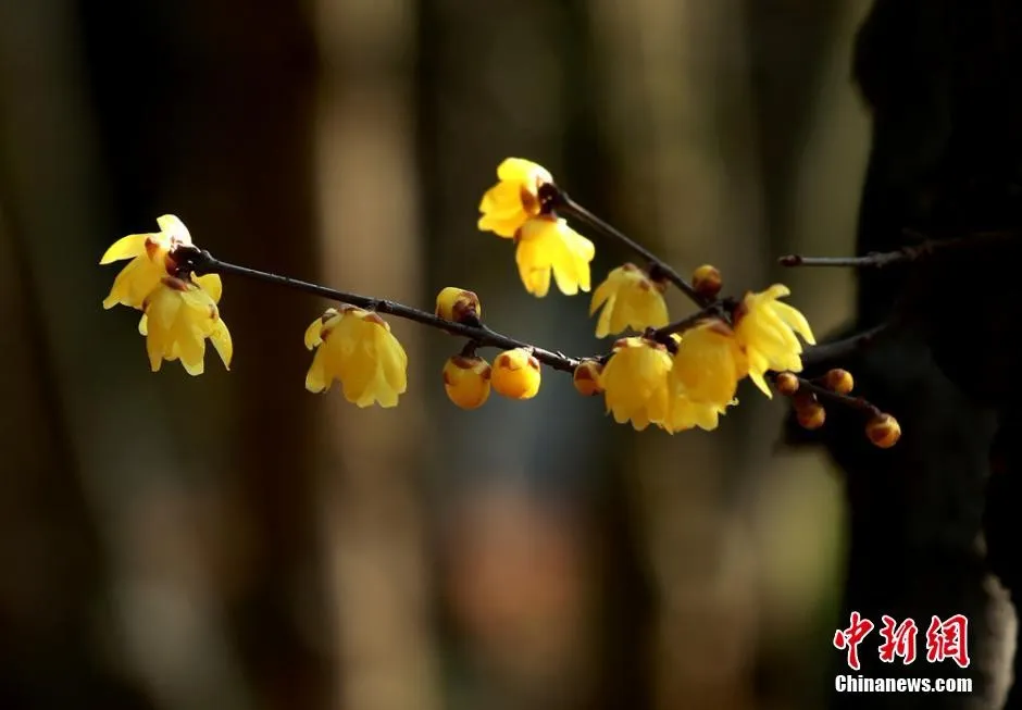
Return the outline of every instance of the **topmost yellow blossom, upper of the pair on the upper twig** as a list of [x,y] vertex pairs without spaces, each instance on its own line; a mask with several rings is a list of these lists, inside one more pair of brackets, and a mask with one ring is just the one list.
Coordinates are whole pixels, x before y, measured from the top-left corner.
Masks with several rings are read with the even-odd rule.
[[500,180],[486,190],[479,202],[479,229],[510,239],[540,211],[539,186],[552,183],[547,169],[521,158],[508,158],[497,167]]

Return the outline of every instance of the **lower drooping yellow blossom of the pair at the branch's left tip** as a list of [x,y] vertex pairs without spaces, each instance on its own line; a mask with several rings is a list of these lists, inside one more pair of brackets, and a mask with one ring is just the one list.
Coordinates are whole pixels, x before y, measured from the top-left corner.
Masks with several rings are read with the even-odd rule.
[[201,375],[205,369],[207,338],[224,366],[230,369],[234,345],[216,308],[220,296],[220,277],[215,274],[192,282],[164,276],[157,284],[142,303],[144,313],[138,322],[153,372],[159,372],[164,360],[180,360],[189,375]]

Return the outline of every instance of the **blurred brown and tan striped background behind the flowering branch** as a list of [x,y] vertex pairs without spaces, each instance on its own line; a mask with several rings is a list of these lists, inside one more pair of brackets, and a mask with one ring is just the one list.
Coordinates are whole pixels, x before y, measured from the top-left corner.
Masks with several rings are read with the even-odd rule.
[[[774,258],[852,249],[869,4],[0,0],[0,707],[820,707],[844,509],[783,403],[746,383],[718,432],[636,433],[547,372],[464,412],[460,345],[392,322],[409,390],[360,410],[302,386],[326,303],[236,278],[232,371],[153,375],[97,264],[171,212],[229,261],[471,288],[603,350],[587,296],[528,296],[475,227],[518,155],[825,334],[851,274]],[[596,241],[594,283],[630,258]]]

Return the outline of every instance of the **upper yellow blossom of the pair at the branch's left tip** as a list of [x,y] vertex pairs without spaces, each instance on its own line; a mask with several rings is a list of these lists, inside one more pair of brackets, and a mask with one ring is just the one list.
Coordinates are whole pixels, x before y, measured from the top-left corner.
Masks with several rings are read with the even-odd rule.
[[110,294],[103,299],[104,309],[122,303],[141,310],[146,297],[160,285],[161,278],[170,275],[166,264],[170,253],[182,245],[191,246],[188,228],[173,214],[158,217],[157,224],[160,232],[122,237],[100,259],[100,264],[132,260],[114,279]]

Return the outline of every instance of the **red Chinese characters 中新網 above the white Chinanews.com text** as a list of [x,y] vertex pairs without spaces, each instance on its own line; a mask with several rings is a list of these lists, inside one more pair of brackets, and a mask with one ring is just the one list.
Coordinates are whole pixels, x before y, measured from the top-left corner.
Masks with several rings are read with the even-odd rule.
[[[915,661],[915,639],[919,627],[911,619],[898,623],[894,616],[881,616],[882,626],[880,635],[883,643],[880,645],[880,660],[884,663],[894,663],[900,658],[908,665]],[[845,651],[848,656],[848,668],[853,671],[861,669],[859,661],[859,644],[875,628],[869,619],[863,619],[858,611],[852,611],[847,628],[839,628],[834,633],[834,648]],[[969,668],[969,620],[962,614],[955,614],[942,621],[933,616],[926,630],[926,661],[942,663],[945,660],[955,661],[959,668]]]

